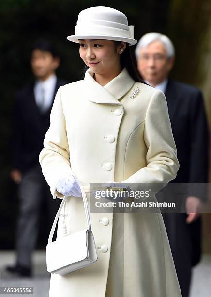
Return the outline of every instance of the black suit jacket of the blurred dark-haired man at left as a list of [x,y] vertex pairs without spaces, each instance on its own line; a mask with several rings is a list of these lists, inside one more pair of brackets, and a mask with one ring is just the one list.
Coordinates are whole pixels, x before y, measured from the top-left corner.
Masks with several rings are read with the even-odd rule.
[[38,163],[43,139],[50,126],[50,112],[58,88],[67,82],[57,79],[50,108],[41,114],[34,98],[34,83],[15,95],[13,108],[12,168],[22,172]]

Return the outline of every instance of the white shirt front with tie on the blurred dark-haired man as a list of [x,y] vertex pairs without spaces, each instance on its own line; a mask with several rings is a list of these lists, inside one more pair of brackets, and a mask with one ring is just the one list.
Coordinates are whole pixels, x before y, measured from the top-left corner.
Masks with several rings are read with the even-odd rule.
[[54,97],[57,77],[52,74],[46,81],[37,80],[34,85],[34,97],[37,106],[46,111],[50,108]]

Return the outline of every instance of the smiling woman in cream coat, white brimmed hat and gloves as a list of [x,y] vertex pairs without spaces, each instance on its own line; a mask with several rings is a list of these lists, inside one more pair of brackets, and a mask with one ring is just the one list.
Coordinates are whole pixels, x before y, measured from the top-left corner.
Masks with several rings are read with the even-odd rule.
[[[162,186],[179,163],[166,98],[133,69],[129,46],[136,40],[126,16],[109,7],[85,9],[67,38],[80,43],[89,69],[84,80],[58,90],[39,161],[53,198],[67,197],[72,234],[86,226],[77,181],[89,201],[90,183]],[[90,220],[97,262],[51,274],[50,297],[181,297],[160,213],[90,213]]]

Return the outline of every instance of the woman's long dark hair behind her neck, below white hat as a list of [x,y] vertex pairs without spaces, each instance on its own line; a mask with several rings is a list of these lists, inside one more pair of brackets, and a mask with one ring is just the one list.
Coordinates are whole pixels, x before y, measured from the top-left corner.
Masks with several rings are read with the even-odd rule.
[[[121,43],[121,41],[114,41],[114,42],[116,43],[116,45]],[[121,68],[123,69],[125,67],[128,73],[130,74],[130,76],[135,80],[135,82],[145,83],[143,81],[142,76],[138,72],[134,56],[132,55],[131,47],[128,45],[128,43],[126,43],[126,48],[123,51],[123,53],[121,53],[120,63],[121,63]],[[88,68],[89,67],[85,65],[84,72],[86,72]]]

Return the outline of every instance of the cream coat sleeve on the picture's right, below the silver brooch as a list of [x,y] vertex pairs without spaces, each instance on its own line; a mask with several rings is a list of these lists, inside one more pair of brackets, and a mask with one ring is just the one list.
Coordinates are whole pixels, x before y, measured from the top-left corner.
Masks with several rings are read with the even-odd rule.
[[136,171],[122,183],[130,183],[133,191],[140,190],[141,185],[138,184],[156,183],[160,184],[156,186],[160,190],[176,177],[179,169],[166,97],[160,90],[152,95],[146,111],[144,141],[148,149],[146,167]]

